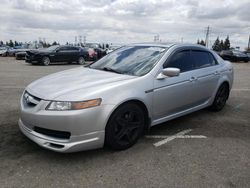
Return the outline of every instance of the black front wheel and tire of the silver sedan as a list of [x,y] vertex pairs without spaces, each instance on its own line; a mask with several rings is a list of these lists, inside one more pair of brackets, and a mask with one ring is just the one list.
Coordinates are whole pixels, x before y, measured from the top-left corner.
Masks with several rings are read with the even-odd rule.
[[118,107],[105,128],[105,144],[114,150],[134,145],[143,133],[146,123],[144,111],[134,103]]

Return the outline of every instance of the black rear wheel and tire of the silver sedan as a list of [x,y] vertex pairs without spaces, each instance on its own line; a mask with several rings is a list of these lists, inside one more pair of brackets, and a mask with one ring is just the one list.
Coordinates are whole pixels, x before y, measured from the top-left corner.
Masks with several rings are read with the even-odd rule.
[[210,106],[210,110],[218,112],[222,110],[227,102],[229,96],[229,87],[226,83],[223,83],[214,98],[213,104]]

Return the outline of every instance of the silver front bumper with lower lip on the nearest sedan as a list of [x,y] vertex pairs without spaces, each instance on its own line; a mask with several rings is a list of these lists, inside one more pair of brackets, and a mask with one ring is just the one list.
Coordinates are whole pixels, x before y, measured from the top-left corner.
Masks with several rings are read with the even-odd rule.
[[[24,135],[44,148],[63,153],[103,147],[105,126],[113,106],[47,111],[45,107],[48,103],[49,101],[41,99],[36,106],[27,106],[22,96],[21,117],[18,123]],[[36,128],[56,134],[39,132]],[[57,136],[58,132],[67,132],[70,136]]]

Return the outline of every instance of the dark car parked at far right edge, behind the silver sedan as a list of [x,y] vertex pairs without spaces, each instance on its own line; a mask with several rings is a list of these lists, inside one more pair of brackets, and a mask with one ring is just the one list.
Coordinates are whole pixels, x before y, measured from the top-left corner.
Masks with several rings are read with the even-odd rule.
[[232,62],[237,62],[237,61],[248,62],[249,61],[249,57],[243,52],[238,51],[238,50],[222,50],[220,52],[220,56],[224,60],[228,60]]

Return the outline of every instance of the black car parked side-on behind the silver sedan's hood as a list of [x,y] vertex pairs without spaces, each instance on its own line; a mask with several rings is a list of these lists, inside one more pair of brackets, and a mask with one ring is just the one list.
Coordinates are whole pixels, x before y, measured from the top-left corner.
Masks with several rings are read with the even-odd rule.
[[27,51],[25,61],[32,64],[50,65],[58,62],[77,62],[81,65],[86,63],[88,52],[76,46],[51,46],[41,50]]

